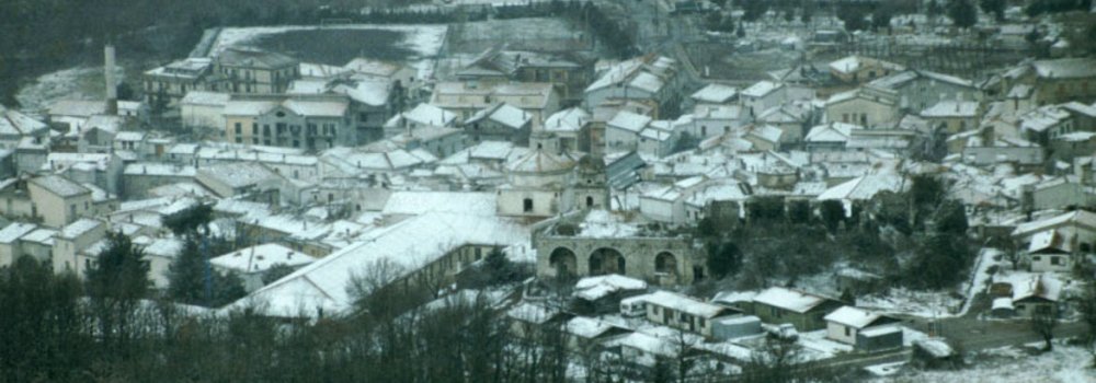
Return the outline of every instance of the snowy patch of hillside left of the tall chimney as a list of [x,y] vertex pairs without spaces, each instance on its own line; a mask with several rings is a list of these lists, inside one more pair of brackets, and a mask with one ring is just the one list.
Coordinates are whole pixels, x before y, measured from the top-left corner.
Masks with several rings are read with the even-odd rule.
[[[125,79],[121,66],[115,72],[118,81]],[[33,84],[19,90],[15,100],[24,111],[44,111],[57,100],[102,98],[105,83],[103,67],[70,68],[38,77]]]

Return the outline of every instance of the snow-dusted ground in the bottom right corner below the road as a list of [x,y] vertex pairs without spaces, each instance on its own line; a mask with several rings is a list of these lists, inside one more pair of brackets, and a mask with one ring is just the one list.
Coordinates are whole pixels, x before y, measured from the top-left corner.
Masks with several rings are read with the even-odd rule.
[[963,370],[906,370],[872,382],[1096,382],[1096,370],[1086,368],[1092,356],[1081,347],[1057,345],[1053,351],[1038,356],[1006,347],[980,352],[973,361],[973,367]]

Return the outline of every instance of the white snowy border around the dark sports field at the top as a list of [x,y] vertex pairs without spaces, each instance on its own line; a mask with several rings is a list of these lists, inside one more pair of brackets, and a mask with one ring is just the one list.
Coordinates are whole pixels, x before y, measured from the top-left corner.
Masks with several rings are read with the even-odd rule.
[[224,28],[217,40],[213,44],[210,55],[216,55],[227,47],[248,45],[258,42],[263,36],[276,35],[292,31],[309,30],[375,30],[391,31],[403,34],[403,40],[398,45],[414,51],[418,57],[412,59],[413,66],[419,70],[421,78],[429,78],[433,73],[433,60],[442,50],[445,43],[445,34],[448,30],[445,25],[375,25],[375,24],[351,24],[338,26],[313,26],[313,25],[284,25],[284,26],[254,26],[254,27],[229,27]]

